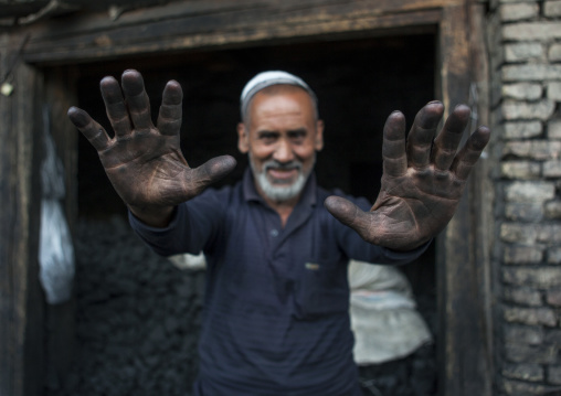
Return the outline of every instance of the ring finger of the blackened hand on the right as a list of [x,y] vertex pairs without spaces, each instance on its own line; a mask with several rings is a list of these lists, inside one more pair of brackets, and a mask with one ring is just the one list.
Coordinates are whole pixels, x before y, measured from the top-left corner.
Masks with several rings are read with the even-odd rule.
[[434,139],[432,162],[441,171],[447,171],[454,161],[459,141],[469,121],[469,107],[458,105],[452,111],[441,132]]

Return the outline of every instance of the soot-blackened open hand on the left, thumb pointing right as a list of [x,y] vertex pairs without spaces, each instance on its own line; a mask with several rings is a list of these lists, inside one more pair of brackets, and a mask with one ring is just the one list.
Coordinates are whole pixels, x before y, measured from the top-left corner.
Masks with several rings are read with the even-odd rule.
[[179,145],[183,93],[178,82],[168,82],[163,89],[156,127],[140,73],[125,71],[121,85],[123,94],[114,77],[100,82],[114,138],[80,108],[71,107],[68,117],[97,150],[107,176],[133,214],[148,225],[166,226],[176,205],[231,172],[235,160],[222,156],[189,168]]

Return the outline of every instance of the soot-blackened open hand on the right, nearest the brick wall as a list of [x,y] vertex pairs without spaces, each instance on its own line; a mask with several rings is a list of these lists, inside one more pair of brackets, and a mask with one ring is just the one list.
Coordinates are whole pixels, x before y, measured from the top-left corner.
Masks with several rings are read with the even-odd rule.
[[396,250],[419,247],[441,232],[490,136],[488,128],[479,127],[457,151],[469,108],[457,106],[434,138],[443,113],[441,103],[427,104],[406,139],[403,114],[392,113],[383,130],[381,189],[370,212],[338,196],[326,200],[327,210],[364,240]]

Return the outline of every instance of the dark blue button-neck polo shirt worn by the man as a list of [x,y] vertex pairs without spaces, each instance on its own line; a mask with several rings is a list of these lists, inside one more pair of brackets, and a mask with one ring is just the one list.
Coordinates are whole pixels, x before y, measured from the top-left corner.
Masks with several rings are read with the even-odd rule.
[[[202,250],[207,257],[195,395],[360,395],[349,258],[403,264],[426,246],[398,253],[366,243],[325,210],[328,195],[311,175],[283,228],[246,171],[235,186],[179,205],[166,228],[129,216],[158,254]],[[366,200],[351,200],[370,208]]]

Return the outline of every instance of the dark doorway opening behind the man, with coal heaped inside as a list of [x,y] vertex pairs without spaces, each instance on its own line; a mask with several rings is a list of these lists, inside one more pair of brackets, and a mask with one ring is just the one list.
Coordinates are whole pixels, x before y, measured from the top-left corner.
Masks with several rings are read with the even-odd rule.
[[[436,40],[435,34],[361,38],[89,63],[80,66],[78,106],[109,130],[99,79],[108,74],[118,78],[134,67],[145,77],[156,118],[161,89],[174,78],[183,87],[181,138],[187,160],[197,167],[214,156],[232,154],[239,165],[221,183],[233,183],[246,165],[236,149],[240,92],[263,69],[285,69],[303,77],[319,98],[326,124],[326,145],[316,167],[320,185],[373,201],[380,188],[385,118],[400,109],[410,126],[415,113],[435,97]],[[95,150],[81,137],[77,245],[84,250],[78,253],[77,338],[82,352],[71,373],[73,381],[65,385],[68,395],[109,395],[116,392],[110,390],[116,378],[126,393],[184,394],[197,374],[203,277],[177,270],[147,251],[130,237],[125,214]],[[434,247],[420,261],[402,270],[437,339]],[[155,311],[159,313],[151,315]],[[93,325],[98,321],[102,324]],[[176,365],[181,368],[172,370]],[[163,382],[170,387],[161,388]]]

